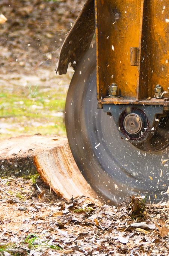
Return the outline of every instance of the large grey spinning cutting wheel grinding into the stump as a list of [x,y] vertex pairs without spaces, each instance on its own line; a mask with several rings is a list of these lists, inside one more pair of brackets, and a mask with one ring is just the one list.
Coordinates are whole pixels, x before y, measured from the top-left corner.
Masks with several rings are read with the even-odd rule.
[[77,166],[107,202],[116,204],[147,193],[150,202],[168,200],[168,147],[146,152],[122,139],[113,117],[97,109],[97,103],[93,47],[74,73],[65,106],[67,136]]

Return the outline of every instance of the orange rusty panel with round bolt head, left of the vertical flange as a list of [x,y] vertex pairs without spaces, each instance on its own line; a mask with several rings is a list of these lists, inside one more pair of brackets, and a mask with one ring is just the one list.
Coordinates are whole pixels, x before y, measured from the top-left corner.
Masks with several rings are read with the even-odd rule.
[[97,0],[96,5],[99,99],[111,83],[122,95],[136,97],[138,68],[130,66],[130,47],[139,47],[141,0]]

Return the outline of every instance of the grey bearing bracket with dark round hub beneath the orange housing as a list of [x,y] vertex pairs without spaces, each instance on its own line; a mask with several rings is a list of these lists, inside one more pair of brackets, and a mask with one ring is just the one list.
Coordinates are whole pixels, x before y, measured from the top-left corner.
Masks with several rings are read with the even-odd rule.
[[143,151],[159,151],[169,145],[169,113],[162,105],[105,104],[123,139]]

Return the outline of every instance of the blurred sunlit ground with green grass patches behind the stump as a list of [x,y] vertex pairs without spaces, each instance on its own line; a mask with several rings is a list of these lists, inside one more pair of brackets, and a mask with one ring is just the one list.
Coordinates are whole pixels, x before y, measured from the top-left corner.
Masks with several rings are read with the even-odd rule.
[[36,75],[0,78],[0,139],[19,135],[66,136],[65,99],[73,69],[66,75],[40,69]]

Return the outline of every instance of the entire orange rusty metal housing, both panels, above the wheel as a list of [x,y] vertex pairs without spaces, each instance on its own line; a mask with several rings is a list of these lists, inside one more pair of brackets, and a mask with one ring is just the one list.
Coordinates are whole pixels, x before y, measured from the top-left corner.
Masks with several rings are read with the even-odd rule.
[[98,99],[111,83],[133,101],[154,98],[156,84],[168,89],[168,11],[167,0],[95,0]]

